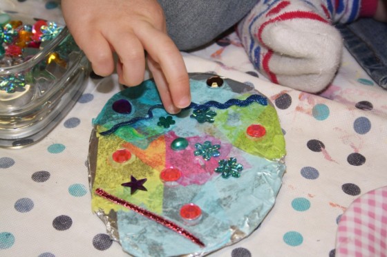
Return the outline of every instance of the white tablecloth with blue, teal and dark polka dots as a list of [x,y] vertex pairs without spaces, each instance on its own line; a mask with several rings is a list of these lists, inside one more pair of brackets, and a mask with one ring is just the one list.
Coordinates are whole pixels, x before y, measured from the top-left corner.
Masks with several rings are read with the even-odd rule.
[[[58,3],[6,0],[0,8],[57,20]],[[286,140],[287,170],[274,208],[252,236],[211,256],[339,254],[338,224],[350,204],[387,184],[387,91],[347,51],[320,95],[267,82],[235,33],[184,58],[191,73],[223,75],[269,97]],[[44,140],[0,149],[0,256],[127,256],[91,211],[87,168],[91,120],[121,88],[116,75],[87,83]]]

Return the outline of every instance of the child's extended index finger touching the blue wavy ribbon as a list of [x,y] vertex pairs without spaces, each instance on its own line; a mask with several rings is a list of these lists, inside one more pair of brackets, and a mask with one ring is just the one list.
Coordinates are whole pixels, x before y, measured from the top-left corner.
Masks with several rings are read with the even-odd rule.
[[150,26],[149,23],[145,23],[134,32],[154,63],[160,66],[158,70],[164,76],[164,84],[169,88],[173,105],[178,108],[189,106],[191,93],[187,69],[172,39],[164,32]]

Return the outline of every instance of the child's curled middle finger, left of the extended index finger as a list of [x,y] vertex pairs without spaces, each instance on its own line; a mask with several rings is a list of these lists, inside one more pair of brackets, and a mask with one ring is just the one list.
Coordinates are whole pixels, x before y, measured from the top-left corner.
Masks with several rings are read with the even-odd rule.
[[137,86],[144,80],[145,55],[144,47],[131,33],[109,39],[118,55],[122,68],[122,78],[126,86]]

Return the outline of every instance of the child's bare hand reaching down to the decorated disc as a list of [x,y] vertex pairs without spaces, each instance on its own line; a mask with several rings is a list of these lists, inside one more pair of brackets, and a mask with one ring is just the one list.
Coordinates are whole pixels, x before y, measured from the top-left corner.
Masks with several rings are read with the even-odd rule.
[[157,0],[62,0],[66,25],[98,75],[113,73],[119,57],[120,83],[136,86],[144,79],[145,53],[162,103],[178,113],[191,102],[182,55],[167,35]]

